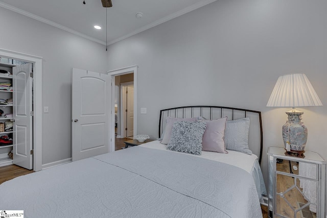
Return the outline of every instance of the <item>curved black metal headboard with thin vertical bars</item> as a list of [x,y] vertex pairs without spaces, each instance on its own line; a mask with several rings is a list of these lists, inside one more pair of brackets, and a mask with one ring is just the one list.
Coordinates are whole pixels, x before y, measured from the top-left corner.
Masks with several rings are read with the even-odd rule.
[[263,149],[262,118],[260,111],[221,106],[184,106],[160,110],[159,138],[165,129],[165,117],[191,118],[201,116],[205,119],[218,119],[227,116],[227,120],[250,118],[249,149],[259,157],[261,163]]

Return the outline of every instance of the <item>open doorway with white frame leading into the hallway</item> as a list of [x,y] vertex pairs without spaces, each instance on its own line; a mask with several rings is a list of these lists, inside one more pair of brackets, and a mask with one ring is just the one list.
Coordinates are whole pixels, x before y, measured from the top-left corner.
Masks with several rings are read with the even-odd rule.
[[[110,70],[108,74],[111,75],[112,80],[112,137],[111,137],[111,151],[115,151],[115,139],[125,138],[126,135],[133,137],[137,133],[137,65]],[[127,86],[130,90],[129,99],[133,104],[130,105],[130,120],[129,122],[130,133],[126,133],[126,108],[123,109],[123,99],[122,99],[122,88]],[[128,91],[128,90],[127,90]],[[132,106],[131,106],[132,105]],[[124,111],[125,110],[125,122],[124,122]],[[117,111],[117,112],[116,112]],[[132,112],[132,116],[131,116]]]

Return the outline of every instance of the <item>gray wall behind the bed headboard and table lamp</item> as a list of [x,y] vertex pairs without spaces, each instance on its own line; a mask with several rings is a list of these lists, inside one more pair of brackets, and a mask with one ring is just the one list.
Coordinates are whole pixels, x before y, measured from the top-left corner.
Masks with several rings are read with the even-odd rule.
[[109,70],[137,64],[138,134],[157,137],[159,110],[219,105],[263,112],[268,147],[283,147],[290,108],[267,108],[278,76],[305,73],[323,107],[299,108],[307,150],[327,158],[327,1],[220,0],[108,47]]

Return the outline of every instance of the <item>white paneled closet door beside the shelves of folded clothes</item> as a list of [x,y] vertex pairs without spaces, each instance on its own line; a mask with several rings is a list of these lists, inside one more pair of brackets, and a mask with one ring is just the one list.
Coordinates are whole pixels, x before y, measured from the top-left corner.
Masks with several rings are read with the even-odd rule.
[[13,163],[33,168],[32,64],[13,67]]

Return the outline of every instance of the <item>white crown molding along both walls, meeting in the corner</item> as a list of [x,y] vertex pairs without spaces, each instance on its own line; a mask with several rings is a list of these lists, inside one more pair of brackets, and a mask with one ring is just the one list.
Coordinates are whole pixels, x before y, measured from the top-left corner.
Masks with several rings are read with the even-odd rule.
[[[137,33],[141,33],[141,32],[143,32],[143,31],[148,30],[148,29],[150,29],[150,28],[152,28],[152,27],[155,27],[155,26],[157,26],[157,25],[159,25],[159,24],[161,24],[161,23],[167,22],[167,21],[169,21],[169,20],[171,20],[171,19],[174,19],[174,18],[176,18],[176,17],[178,17],[178,16],[181,16],[181,15],[183,15],[183,14],[186,14],[186,13],[188,13],[188,12],[191,12],[191,11],[193,11],[193,10],[195,10],[195,9],[201,8],[201,7],[205,6],[205,5],[208,5],[208,4],[213,3],[213,2],[216,2],[216,1],[217,1],[217,0],[203,0],[203,1],[200,1],[200,2],[198,2],[198,3],[196,3],[196,4],[193,4],[193,5],[191,5],[191,6],[187,7],[187,8],[184,8],[184,9],[182,9],[182,10],[180,10],[180,11],[177,11],[177,12],[175,12],[175,13],[172,13],[172,14],[170,14],[170,15],[164,17],[164,18],[161,18],[161,19],[159,19],[159,20],[156,20],[156,21],[154,21],[154,22],[152,22],[152,23],[150,23],[150,24],[148,24],[148,25],[146,25],[146,26],[144,26],[144,27],[142,27],[142,28],[139,28],[139,29],[137,29],[137,30],[135,30],[135,31],[133,31],[133,32],[131,32],[131,33],[129,33],[129,34],[126,34],[126,35],[124,35],[124,36],[122,36],[122,37],[120,37],[120,38],[117,38],[117,39],[111,40],[111,41],[109,41],[109,42],[107,43],[107,45],[110,45],[110,44],[113,44],[113,43],[115,43],[115,42],[121,41],[121,40],[126,39],[126,38],[128,38],[128,37],[130,37],[130,36],[133,36],[133,35],[135,35],[135,34],[137,34]],[[36,19],[36,20],[41,21],[41,22],[44,22],[44,23],[46,23],[46,24],[48,24],[48,25],[51,25],[51,26],[53,26],[53,27],[59,28],[59,29],[61,29],[61,30],[67,31],[67,32],[69,32],[69,33],[73,33],[73,34],[75,34],[75,35],[78,35],[78,36],[83,37],[83,38],[86,38],[86,39],[89,39],[89,40],[91,40],[91,41],[98,42],[98,43],[100,43],[100,44],[106,45],[106,42],[104,42],[104,41],[102,41],[102,40],[96,39],[96,38],[94,38],[94,37],[87,36],[87,35],[85,35],[85,34],[83,34],[83,33],[80,33],[80,32],[78,32],[78,31],[75,31],[75,30],[73,30],[73,29],[71,29],[71,28],[67,28],[67,27],[65,27],[65,26],[62,26],[62,25],[60,25],[59,23],[56,23],[56,22],[53,22],[53,21],[51,21],[51,20],[48,20],[48,19],[42,18],[42,17],[40,17],[40,16],[37,16],[37,15],[35,15],[35,14],[32,14],[32,13],[29,13],[29,12],[27,12],[27,11],[21,10],[21,9],[19,9],[19,8],[13,7],[13,6],[8,5],[8,4],[6,4],[6,3],[0,2],[0,7],[3,7],[3,8],[6,8],[6,9],[8,9],[8,10],[11,10],[11,11],[17,12],[17,13],[19,13],[19,14],[22,14],[22,15],[25,15],[25,16],[28,16],[28,17],[31,17],[31,18],[33,18],[33,19]]]

